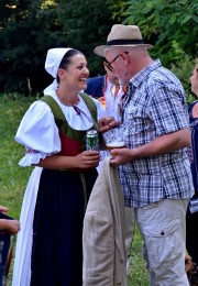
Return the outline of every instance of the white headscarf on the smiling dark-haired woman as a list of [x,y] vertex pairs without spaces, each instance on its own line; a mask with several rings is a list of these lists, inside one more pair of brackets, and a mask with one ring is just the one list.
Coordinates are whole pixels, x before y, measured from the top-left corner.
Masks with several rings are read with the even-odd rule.
[[65,54],[73,50],[70,47],[55,47],[47,51],[46,61],[45,61],[45,69],[46,72],[53,76],[54,81],[44,89],[44,95],[47,95],[52,90],[56,90],[58,87],[58,82],[56,80],[57,70],[59,68],[59,64],[65,56]]

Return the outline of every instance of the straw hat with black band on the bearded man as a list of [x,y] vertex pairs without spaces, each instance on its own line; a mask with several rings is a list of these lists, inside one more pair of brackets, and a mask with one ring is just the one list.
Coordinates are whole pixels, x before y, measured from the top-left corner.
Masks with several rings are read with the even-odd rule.
[[107,44],[97,46],[94,53],[98,56],[105,57],[105,50],[113,46],[145,46],[146,48],[153,47],[150,44],[145,44],[140,28],[138,25],[121,25],[116,24],[111,28],[111,32],[108,35]]

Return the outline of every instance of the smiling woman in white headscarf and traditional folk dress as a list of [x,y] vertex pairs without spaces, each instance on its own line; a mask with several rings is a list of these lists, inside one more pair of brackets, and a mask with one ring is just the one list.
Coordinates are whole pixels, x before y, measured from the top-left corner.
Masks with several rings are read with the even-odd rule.
[[[86,151],[85,139],[105,113],[80,94],[89,70],[79,51],[50,50],[45,69],[55,80],[30,107],[15,135],[26,148],[19,164],[38,167],[23,200],[12,285],[80,286],[82,220],[100,160],[98,151]],[[111,120],[101,120],[100,130],[113,125],[108,125]]]

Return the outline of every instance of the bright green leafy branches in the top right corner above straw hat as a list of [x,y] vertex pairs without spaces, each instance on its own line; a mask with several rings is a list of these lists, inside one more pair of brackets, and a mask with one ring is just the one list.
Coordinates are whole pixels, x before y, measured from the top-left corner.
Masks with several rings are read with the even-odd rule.
[[129,0],[128,3],[124,22],[141,28],[145,42],[155,45],[153,55],[160,56],[166,66],[178,59],[172,55],[174,44],[190,57],[197,56],[197,0]]

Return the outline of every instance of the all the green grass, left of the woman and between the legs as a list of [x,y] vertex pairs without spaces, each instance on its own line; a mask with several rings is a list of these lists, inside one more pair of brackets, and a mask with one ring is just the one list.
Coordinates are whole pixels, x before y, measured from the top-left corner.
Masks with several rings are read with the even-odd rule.
[[[22,199],[32,167],[22,168],[18,165],[24,155],[24,147],[14,141],[14,135],[24,112],[34,100],[35,98],[23,98],[20,95],[0,95],[0,205],[7,206],[9,215],[15,219],[20,218]],[[11,286],[12,266],[7,286]],[[129,286],[139,285],[147,286],[148,278],[142,258],[142,239],[136,229]]]

